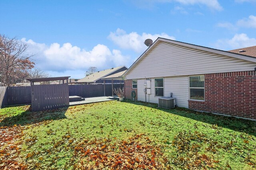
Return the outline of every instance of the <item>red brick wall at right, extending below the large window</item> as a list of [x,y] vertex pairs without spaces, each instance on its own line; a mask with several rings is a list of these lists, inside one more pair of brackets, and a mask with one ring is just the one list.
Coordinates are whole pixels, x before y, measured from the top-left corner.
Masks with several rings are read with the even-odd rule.
[[204,102],[191,109],[256,119],[256,71],[206,74]]

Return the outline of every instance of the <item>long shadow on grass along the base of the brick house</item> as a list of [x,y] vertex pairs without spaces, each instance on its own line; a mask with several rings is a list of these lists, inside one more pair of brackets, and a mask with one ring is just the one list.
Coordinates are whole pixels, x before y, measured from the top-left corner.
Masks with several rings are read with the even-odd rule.
[[199,112],[199,111],[186,109],[183,107],[176,107],[174,109],[163,109],[158,107],[157,104],[152,104],[152,103],[138,102],[138,101],[134,102],[129,100],[128,101],[126,100],[126,102],[159,109],[167,113],[172,113],[172,114],[186,117],[189,119],[194,119],[196,121],[201,121],[201,122],[209,123],[212,125],[218,125],[218,127],[223,127],[223,128],[231,129],[234,131],[244,132],[244,133],[248,133],[249,135],[256,136],[256,121],[240,119],[236,117],[215,115],[215,114],[206,113],[206,112]]

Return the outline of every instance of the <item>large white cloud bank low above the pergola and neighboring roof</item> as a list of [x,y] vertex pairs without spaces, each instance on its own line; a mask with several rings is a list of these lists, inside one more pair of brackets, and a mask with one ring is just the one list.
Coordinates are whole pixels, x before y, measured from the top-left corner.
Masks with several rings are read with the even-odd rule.
[[[28,44],[28,52],[36,54],[33,59],[36,67],[50,74],[70,72],[74,74],[75,70],[86,72],[90,66],[95,66],[99,70],[108,69],[115,66],[129,66],[130,57],[122,55],[119,50],[112,50],[102,44],[96,45],[91,51],[72,46],[70,43],[64,43],[62,46],[58,43],[52,43],[50,46],[44,43],[36,43],[29,39],[23,42]],[[71,70],[71,71],[70,71]],[[81,75],[81,73],[79,73]],[[53,75],[54,76],[54,75]],[[76,75],[72,75],[76,77]],[[76,77],[81,78],[81,77]]]

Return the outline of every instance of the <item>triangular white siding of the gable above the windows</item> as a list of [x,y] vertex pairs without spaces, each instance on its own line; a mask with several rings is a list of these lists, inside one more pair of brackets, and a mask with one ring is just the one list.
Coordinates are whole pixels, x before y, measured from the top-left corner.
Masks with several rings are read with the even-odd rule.
[[248,71],[254,67],[254,62],[161,41],[126,79]]

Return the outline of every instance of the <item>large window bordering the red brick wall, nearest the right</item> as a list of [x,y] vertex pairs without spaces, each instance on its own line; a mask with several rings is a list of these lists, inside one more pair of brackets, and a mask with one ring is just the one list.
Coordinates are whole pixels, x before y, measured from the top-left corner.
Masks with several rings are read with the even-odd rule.
[[190,100],[204,101],[204,75],[189,76]]

